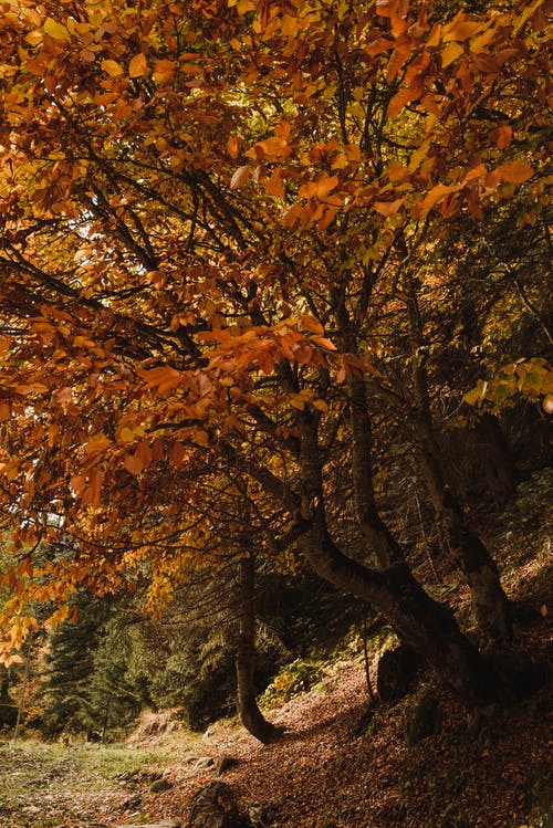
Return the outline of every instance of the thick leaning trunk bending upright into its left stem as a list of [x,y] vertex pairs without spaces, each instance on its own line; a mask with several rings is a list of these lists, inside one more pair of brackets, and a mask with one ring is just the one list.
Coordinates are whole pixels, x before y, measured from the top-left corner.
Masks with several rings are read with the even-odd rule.
[[439,678],[469,706],[489,704],[498,694],[488,662],[463,636],[450,609],[435,601],[406,563],[374,572],[344,555],[330,536],[319,457],[315,413],[301,418],[302,521],[299,545],[315,572],[338,589],[365,598],[397,635],[417,650]]

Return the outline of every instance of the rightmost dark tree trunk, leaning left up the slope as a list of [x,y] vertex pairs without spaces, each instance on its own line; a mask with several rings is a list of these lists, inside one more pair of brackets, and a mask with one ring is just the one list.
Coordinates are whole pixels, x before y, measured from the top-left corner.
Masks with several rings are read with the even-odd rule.
[[416,281],[411,280],[408,301],[415,397],[414,432],[420,467],[436,514],[446,530],[459,568],[470,589],[472,608],[487,646],[501,644],[512,636],[509,599],[503,591],[498,567],[481,538],[468,525],[461,505],[446,479],[440,448],[436,439],[428,392],[428,376],[420,350],[424,345]]

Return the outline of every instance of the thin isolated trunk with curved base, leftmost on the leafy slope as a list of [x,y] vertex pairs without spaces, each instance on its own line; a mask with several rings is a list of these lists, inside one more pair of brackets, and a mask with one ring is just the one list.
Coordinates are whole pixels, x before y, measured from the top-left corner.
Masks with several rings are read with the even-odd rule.
[[252,736],[264,745],[278,731],[264,719],[255,701],[253,670],[255,665],[255,562],[248,555],[239,562],[239,635],[237,648],[238,710],[240,721]]

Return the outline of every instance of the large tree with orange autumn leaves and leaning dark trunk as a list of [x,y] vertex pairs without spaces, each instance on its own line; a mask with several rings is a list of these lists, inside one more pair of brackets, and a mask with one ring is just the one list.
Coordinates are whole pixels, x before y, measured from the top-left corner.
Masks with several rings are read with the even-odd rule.
[[[424,346],[417,280],[431,283],[459,217],[483,238],[487,213],[517,196],[521,222],[541,221],[543,3],[80,0],[2,13],[13,642],[30,595],[63,612],[77,584],[148,577],[163,597],[186,567],[217,565],[202,504],[213,470],[231,467],[261,493],[263,554],[295,545],[468,704],[494,698],[487,661],[383,520],[367,394],[407,322]],[[486,547],[476,569],[467,560],[465,541],[468,557],[478,545],[424,462],[436,452],[422,379],[422,468],[482,631],[501,638],[494,565]],[[35,567],[28,549],[64,536],[71,553]]]

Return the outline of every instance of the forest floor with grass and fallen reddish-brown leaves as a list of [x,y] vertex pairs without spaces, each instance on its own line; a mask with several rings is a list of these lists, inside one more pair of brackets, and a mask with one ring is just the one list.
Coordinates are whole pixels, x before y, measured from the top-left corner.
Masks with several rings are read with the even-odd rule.
[[[542,661],[551,647],[550,551],[505,575],[525,607],[520,652]],[[363,661],[345,651],[309,691],[264,711],[285,727],[271,745],[234,720],[192,734],[168,713],[145,714],[118,745],[1,745],[0,828],[168,818],[186,826],[191,797],[213,778],[232,786],[244,810],[263,806],[259,825],[271,828],[551,828],[551,691],[550,682],[469,727],[459,703],[438,690],[438,732],[408,747],[403,715],[413,696],[376,706],[364,725]],[[223,757],[234,764],[217,777]]]

